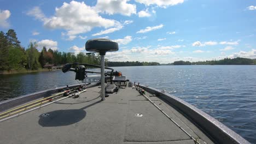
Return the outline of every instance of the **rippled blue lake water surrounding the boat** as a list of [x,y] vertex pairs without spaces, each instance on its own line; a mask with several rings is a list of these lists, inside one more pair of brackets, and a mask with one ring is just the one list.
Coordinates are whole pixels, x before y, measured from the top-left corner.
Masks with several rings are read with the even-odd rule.
[[[256,143],[256,66],[184,65],[115,67],[127,79],[181,98]],[[100,71],[100,69],[92,69]],[[1,98],[77,84],[73,72],[0,75]]]

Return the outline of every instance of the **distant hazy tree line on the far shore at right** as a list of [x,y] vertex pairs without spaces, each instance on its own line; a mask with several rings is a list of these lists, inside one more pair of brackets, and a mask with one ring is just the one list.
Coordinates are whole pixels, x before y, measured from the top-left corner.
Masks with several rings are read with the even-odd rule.
[[256,59],[250,58],[224,58],[218,61],[203,61],[203,62],[189,62],[189,61],[175,61],[168,65],[252,65],[256,64]]

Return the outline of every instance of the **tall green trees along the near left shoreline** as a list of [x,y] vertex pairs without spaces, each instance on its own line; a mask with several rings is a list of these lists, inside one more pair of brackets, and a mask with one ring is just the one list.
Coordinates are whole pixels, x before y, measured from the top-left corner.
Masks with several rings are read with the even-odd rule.
[[[14,29],[7,33],[0,32],[0,71],[10,70],[37,70],[45,64],[89,63],[100,64],[100,56],[83,52],[75,55],[73,52],[60,52],[43,46],[42,51],[37,50],[37,43],[30,43],[27,49],[20,45]],[[41,48],[41,47],[39,47]]]

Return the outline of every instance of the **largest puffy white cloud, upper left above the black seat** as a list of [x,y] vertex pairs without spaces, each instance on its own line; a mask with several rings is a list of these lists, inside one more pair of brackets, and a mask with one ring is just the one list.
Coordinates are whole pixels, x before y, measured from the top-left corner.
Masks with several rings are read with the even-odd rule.
[[65,29],[66,35],[77,35],[91,31],[94,27],[117,27],[120,22],[104,19],[98,15],[95,8],[86,5],[84,2],[64,2],[60,8],[55,8],[55,15],[45,17],[39,7],[28,11],[28,15],[43,21],[44,26],[50,29]]

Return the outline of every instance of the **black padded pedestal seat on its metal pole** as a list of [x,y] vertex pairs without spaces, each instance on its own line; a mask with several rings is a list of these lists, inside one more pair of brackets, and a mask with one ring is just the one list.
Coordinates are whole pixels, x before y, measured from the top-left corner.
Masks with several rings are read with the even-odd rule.
[[105,100],[104,56],[108,51],[118,51],[118,43],[109,39],[90,39],[86,42],[85,49],[101,55],[101,98]]

